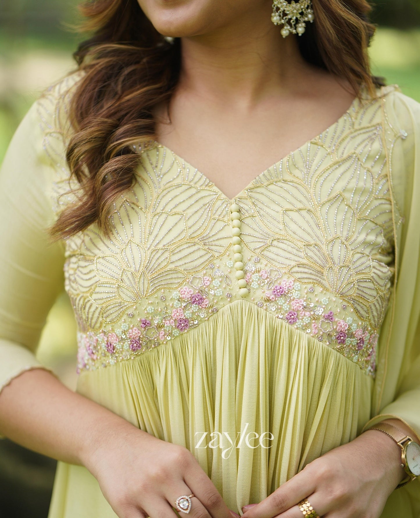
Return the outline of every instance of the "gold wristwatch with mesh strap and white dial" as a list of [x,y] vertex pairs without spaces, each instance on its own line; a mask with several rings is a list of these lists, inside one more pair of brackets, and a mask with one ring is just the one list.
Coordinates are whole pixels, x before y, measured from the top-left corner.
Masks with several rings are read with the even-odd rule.
[[394,439],[402,450],[401,467],[404,468],[407,473],[407,478],[397,485],[397,489],[407,485],[416,477],[420,476],[420,444],[413,441],[411,437],[404,435],[402,430],[392,424],[379,423],[368,429],[382,431],[391,439]]

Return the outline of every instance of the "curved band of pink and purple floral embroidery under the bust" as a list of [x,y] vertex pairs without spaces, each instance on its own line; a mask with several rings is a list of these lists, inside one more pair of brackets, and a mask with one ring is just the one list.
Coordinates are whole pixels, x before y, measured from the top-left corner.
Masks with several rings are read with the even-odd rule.
[[[271,278],[271,270],[259,270],[258,266],[253,266],[254,263],[259,261],[250,262],[252,267],[247,272],[247,279],[260,286],[258,307],[265,307],[273,314],[277,313],[278,318],[297,326],[317,341],[328,346],[335,344],[340,353],[353,362],[360,363],[370,375],[374,375],[374,356],[378,339],[374,330],[367,324],[364,324],[363,328],[361,325],[360,328],[356,328],[350,318],[343,320],[346,311],[342,310],[346,310],[347,305],[341,301],[328,307],[329,299],[317,298],[312,286],[305,289],[293,280]],[[211,265],[211,268],[213,267],[214,265]],[[220,271],[216,270],[215,274],[220,275]],[[137,356],[156,347],[160,342],[166,343],[187,329],[197,326],[202,320],[208,320],[209,314],[219,309],[212,307],[211,296],[214,291],[207,287],[212,285],[212,279],[211,274],[208,274],[198,280],[198,285],[194,280],[194,286],[191,288],[187,284],[173,292],[171,298],[178,300],[177,304],[168,304],[169,307],[165,307],[161,301],[164,301],[166,296],[161,295],[154,307],[150,301],[149,306],[142,308],[142,314],[134,315],[133,312],[128,312],[128,318],[134,320],[135,316],[136,320],[128,326],[124,321],[121,327],[100,329],[96,335],[91,332],[78,333],[78,372],[85,368],[93,370],[105,364],[114,365],[122,359]],[[267,289],[267,285],[270,289]],[[230,300],[232,294],[226,293],[226,297]],[[210,308],[210,311],[202,308]],[[143,334],[145,328],[147,333]]]

